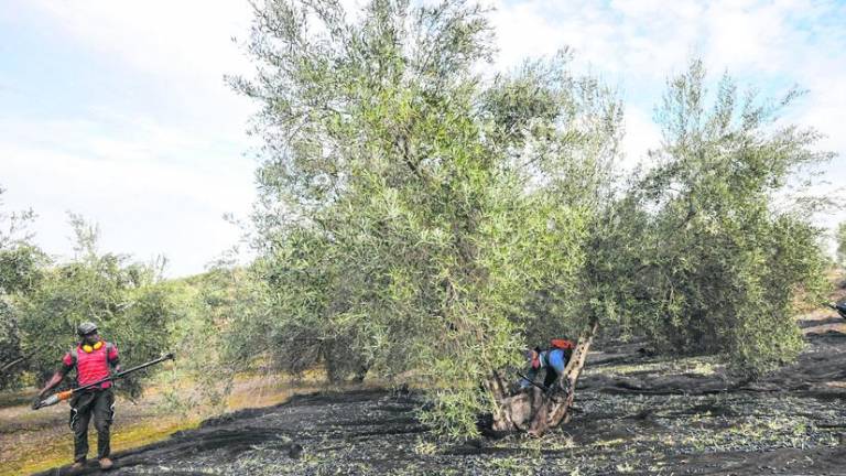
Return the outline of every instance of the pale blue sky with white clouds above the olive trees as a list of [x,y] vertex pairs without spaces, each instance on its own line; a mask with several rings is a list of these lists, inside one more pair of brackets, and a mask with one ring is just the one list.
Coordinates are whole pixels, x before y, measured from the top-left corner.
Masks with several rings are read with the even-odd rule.
[[[356,0],[347,3],[355,6]],[[358,2],[360,3],[360,1]],[[490,0],[507,69],[574,51],[574,69],[615,88],[626,108],[627,161],[657,148],[652,121],[666,77],[702,57],[716,82],[778,96],[809,90],[787,119],[817,128],[846,177],[846,2]],[[237,245],[256,198],[256,105],[224,75],[251,73],[239,46],[246,0],[0,0],[0,210],[32,208],[34,241],[73,256],[68,212],[100,228],[100,249],[165,274],[202,272]],[[232,41],[232,39],[236,41]],[[843,212],[814,217],[827,228]]]

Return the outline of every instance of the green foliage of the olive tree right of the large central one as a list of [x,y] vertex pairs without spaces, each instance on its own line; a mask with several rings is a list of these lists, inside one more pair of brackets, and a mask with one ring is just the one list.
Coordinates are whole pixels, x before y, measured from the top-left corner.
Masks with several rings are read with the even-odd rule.
[[794,306],[824,284],[820,230],[774,197],[831,154],[816,131],[777,121],[795,91],[761,100],[724,76],[712,100],[705,78],[694,61],[669,80],[655,165],[597,221],[593,302],[660,350],[725,354],[753,377],[798,355]]

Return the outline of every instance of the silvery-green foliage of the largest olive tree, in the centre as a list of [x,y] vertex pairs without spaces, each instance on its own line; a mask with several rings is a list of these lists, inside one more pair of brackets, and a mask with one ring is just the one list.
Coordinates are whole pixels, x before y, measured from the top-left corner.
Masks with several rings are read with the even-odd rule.
[[532,339],[582,325],[583,244],[615,158],[620,108],[566,52],[510,74],[464,1],[256,9],[262,105],[253,269],[267,312],[237,326],[282,368],[404,378],[423,419],[476,432],[480,382]]

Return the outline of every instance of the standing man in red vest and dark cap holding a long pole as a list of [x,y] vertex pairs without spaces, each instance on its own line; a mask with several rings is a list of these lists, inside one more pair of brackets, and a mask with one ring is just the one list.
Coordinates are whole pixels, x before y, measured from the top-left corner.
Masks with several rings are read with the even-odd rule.
[[[107,343],[97,333],[97,325],[90,322],[79,324],[76,329],[79,344],[65,354],[62,367],[53,375],[39,393],[39,401],[62,382],[62,379],[76,368],[76,382],[79,387],[109,377],[110,368],[120,372],[118,348]],[[112,466],[109,459],[111,452],[109,426],[115,418],[115,392],[111,381],[75,394],[70,401],[70,430],[74,432],[74,464],[72,469],[85,467],[88,457],[88,422],[94,415],[94,428],[97,429],[97,458],[101,469]]]

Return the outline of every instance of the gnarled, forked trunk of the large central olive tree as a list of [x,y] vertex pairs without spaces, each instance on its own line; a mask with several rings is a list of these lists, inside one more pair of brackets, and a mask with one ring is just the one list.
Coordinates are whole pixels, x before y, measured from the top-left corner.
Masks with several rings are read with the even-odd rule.
[[501,375],[496,375],[488,383],[488,389],[497,398],[499,410],[494,414],[492,430],[495,432],[525,431],[533,436],[540,436],[551,428],[568,420],[567,410],[573,404],[576,381],[587,359],[587,351],[596,335],[598,324],[582,335],[578,345],[561,376],[565,390],[545,392],[539,387],[531,387],[517,394],[509,396]]

